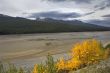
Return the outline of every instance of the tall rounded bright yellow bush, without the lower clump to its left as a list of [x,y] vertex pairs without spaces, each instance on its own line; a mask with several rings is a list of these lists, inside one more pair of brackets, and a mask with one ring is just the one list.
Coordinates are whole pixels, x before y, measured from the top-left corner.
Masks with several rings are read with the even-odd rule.
[[103,59],[102,44],[95,39],[77,43],[72,48],[72,58],[76,58],[86,65],[98,62]]

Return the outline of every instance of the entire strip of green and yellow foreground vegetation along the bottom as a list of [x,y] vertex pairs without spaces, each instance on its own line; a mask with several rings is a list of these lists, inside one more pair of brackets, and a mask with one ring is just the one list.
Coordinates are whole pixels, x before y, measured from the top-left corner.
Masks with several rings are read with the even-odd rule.
[[[110,67],[106,67],[102,68],[101,71],[98,68],[100,70],[98,72],[96,68],[90,67],[99,65],[110,57],[110,44],[104,47],[99,40],[89,39],[76,43],[71,49],[70,54],[70,59],[60,58],[57,61],[54,61],[52,55],[48,54],[45,64],[36,64],[32,70],[25,70],[22,67],[16,68],[13,64],[9,64],[5,68],[3,63],[0,62],[0,73],[77,73],[76,71],[78,70],[80,70],[79,73],[104,73],[110,69]],[[93,71],[88,72],[87,67],[93,69]]]

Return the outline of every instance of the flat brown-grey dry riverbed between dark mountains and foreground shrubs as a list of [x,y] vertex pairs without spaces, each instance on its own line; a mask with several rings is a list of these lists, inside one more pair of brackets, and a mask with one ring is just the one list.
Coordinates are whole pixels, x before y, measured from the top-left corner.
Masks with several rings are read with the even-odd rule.
[[0,59],[17,66],[33,66],[44,62],[48,53],[55,59],[68,58],[74,43],[90,38],[109,43],[110,31],[0,35]]

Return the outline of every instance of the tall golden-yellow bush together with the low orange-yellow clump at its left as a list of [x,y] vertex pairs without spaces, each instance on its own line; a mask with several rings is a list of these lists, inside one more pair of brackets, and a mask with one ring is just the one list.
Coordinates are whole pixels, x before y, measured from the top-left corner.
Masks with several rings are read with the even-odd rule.
[[71,59],[63,58],[57,62],[58,70],[77,70],[81,67],[94,64],[103,59],[104,48],[100,41],[95,39],[77,43],[71,50]]

